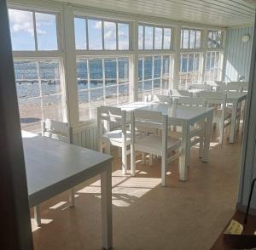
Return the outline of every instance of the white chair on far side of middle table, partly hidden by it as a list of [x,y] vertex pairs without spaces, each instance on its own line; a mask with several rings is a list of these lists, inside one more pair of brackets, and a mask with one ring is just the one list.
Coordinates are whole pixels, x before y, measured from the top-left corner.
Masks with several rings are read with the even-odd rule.
[[[206,107],[207,101],[205,99],[201,98],[195,98],[195,97],[181,97],[177,99],[177,105],[185,105],[185,106],[195,106],[195,107]],[[181,135],[181,126],[177,127],[177,136]],[[193,145],[196,145],[199,143],[199,157],[201,158],[203,155],[203,141],[204,141],[204,134],[205,134],[205,120],[202,120],[199,123],[194,124],[193,126],[190,126],[189,130],[189,151],[187,153],[188,157],[188,165],[189,165],[189,159],[190,159],[190,147]]]

